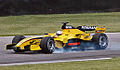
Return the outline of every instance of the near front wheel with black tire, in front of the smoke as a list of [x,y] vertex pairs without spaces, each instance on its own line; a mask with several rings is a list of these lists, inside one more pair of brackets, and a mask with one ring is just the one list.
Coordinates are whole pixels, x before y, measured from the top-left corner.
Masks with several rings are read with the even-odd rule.
[[43,53],[53,53],[55,51],[55,41],[51,37],[45,37],[41,40],[40,47]]

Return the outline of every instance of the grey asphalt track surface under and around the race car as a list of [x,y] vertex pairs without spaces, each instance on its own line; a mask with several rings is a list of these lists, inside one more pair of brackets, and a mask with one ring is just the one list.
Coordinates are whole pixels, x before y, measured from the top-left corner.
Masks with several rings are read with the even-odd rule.
[[106,50],[89,50],[66,53],[43,54],[26,52],[16,54],[12,50],[5,50],[5,45],[10,44],[13,36],[0,37],[0,64],[40,62],[71,59],[93,59],[120,56],[120,33],[107,33],[109,46]]

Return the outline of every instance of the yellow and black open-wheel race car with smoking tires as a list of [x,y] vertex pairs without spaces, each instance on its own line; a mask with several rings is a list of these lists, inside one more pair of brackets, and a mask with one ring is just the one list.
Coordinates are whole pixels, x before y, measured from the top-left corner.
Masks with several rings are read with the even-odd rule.
[[[43,53],[53,53],[56,49],[80,49],[94,47],[96,50],[106,49],[108,37],[105,34],[106,28],[97,26],[73,27],[64,22],[61,31],[56,33],[45,33],[44,35],[25,37],[17,35],[13,38],[12,44],[6,45],[6,50],[12,49],[14,52],[41,51]],[[95,31],[95,33],[87,33]]]

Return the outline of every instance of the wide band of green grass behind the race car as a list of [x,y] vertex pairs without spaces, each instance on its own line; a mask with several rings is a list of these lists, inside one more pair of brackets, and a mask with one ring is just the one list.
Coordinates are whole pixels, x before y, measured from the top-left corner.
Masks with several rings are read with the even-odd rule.
[[43,34],[60,30],[61,22],[71,25],[106,26],[107,32],[120,32],[120,12],[23,15],[0,17],[0,35]]

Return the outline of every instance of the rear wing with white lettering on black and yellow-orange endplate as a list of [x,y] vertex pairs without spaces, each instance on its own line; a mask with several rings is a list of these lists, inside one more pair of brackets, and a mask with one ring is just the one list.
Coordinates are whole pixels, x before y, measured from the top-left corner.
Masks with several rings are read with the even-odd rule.
[[78,26],[77,29],[81,31],[95,31],[96,33],[104,33],[106,28],[103,27],[97,27],[97,26]]

